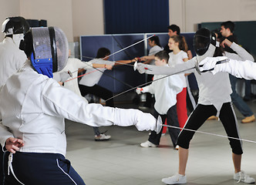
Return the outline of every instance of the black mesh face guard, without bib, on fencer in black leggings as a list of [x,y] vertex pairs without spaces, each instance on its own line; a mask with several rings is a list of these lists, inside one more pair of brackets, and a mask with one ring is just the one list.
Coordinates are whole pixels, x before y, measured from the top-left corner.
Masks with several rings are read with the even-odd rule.
[[193,44],[197,55],[204,55],[210,44],[216,46],[216,35],[209,29],[199,29],[194,35]]

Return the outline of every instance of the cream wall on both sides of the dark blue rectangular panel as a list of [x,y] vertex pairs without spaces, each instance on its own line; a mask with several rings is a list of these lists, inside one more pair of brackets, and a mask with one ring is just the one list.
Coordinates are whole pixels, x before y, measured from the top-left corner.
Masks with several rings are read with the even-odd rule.
[[[0,0],[0,4],[0,22],[17,15],[46,19],[49,26],[61,28],[69,42],[79,41],[79,35],[104,33],[103,0]],[[170,24],[180,25],[181,32],[195,32],[200,22],[256,19],[255,0],[169,0],[169,5]]]

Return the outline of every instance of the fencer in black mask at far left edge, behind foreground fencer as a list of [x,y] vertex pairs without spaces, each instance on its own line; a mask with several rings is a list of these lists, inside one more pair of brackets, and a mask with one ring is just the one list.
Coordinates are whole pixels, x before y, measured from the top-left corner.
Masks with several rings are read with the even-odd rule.
[[[29,23],[23,17],[8,17],[2,23],[5,39],[0,42],[0,86],[4,85],[8,77],[12,76],[27,59],[25,52],[19,49],[19,42],[25,32],[29,31]],[[0,185],[3,184],[2,156],[0,151]]]

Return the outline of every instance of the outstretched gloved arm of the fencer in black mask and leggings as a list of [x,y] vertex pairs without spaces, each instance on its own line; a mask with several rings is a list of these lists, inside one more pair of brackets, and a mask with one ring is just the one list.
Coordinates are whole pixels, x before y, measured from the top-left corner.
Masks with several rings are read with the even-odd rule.
[[143,63],[138,63],[136,69],[140,73],[147,73],[151,75],[172,75],[177,72],[190,73],[194,72],[194,67],[196,65],[196,58],[188,60],[182,64],[177,64],[175,66],[153,66]]

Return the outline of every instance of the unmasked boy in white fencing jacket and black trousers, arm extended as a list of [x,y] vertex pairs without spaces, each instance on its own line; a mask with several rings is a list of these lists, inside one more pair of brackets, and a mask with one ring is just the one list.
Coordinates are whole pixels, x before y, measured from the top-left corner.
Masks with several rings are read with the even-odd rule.
[[[169,55],[165,51],[157,52],[155,55],[156,66],[168,66],[167,62]],[[137,88],[136,93],[151,93],[155,96],[156,103],[154,104],[155,117],[161,116],[164,121],[167,119],[167,125],[179,127],[179,121],[177,119],[177,94],[183,89],[183,80],[180,75],[169,76],[168,78],[163,78],[164,75],[153,76],[153,81],[150,86],[144,86],[143,88]],[[180,130],[168,128],[170,139],[173,143],[173,148],[178,149],[177,137]],[[142,147],[156,147],[160,143],[160,138],[162,135],[162,130],[160,133],[152,131],[150,133],[149,139],[140,143]]]

